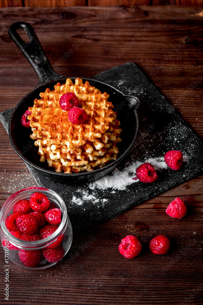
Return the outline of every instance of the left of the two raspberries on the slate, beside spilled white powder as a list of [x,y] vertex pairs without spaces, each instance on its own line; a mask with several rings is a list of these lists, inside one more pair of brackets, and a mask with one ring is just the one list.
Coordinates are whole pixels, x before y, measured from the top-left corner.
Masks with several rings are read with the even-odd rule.
[[158,178],[158,175],[156,174],[156,170],[152,166],[152,164],[146,162],[141,164],[136,169],[136,175],[141,182],[153,182]]

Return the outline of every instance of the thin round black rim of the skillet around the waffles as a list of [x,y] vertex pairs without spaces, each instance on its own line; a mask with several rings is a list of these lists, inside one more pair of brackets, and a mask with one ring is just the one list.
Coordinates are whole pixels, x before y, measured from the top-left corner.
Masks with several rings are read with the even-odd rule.
[[[85,172],[79,172],[79,173],[58,173],[58,172],[55,172],[55,171],[51,171],[51,170],[47,170],[47,169],[44,169],[42,167],[39,167],[37,166],[36,164],[32,163],[31,161],[29,161],[28,159],[26,159],[20,152],[19,150],[17,149],[16,145],[14,144],[13,142],[13,138],[12,138],[12,134],[11,134],[11,124],[12,124],[12,119],[15,115],[15,112],[16,112],[16,109],[18,109],[18,107],[20,106],[21,102],[26,99],[27,96],[29,96],[31,93],[33,93],[35,90],[37,90],[38,88],[44,86],[44,85],[48,85],[48,84],[51,84],[51,83],[54,83],[54,82],[59,82],[59,81],[62,81],[64,79],[67,79],[67,78],[70,78],[70,79],[75,79],[77,77],[61,77],[59,79],[55,79],[55,80],[52,80],[52,81],[48,81],[48,82],[45,82],[43,84],[38,84],[37,87],[33,88],[33,90],[31,90],[30,92],[28,92],[16,105],[16,107],[14,108],[13,112],[12,112],[12,116],[11,116],[11,119],[10,119],[10,122],[9,122],[9,139],[10,139],[10,142],[12,144],[12,147],[13,149],[15,150],[15,152],[19,155],[19,157],[25,162],[27,163],[28,165],[34,167],[35,169],[39,170],[39,171],[42,171],[42,172],[45,172],[47,174],[53,174],[54,176],[64,176],[64,177],[72,177],[74,175],[77,176],[77,177],[84,177],[84,176],[90,176],[90,175],[96,175],[97,173],[100,173],[102,171],[104,171],[105,169],[109,169],[110,167],[116,167],[126,156],[128,156],[128,153],[131,151],[131,148],[133,147],[134,143],[135,143],[135,140],[136,140],[136,137],[137,137],[137,133],[138,133],[138,114],[137,114],[137,108],[139,107],[140,105],[140,100],[138,99],[137,96],[134,96],[134,95],[126,95],[124,94],[122,91],[120,91],[119,89],[115,88],[114,86],[110,85],[110,84],[107,84],[103,81],[100,81],[100,80],[96,80],[94,78],[88,78],[88,77],[81,77],[82,80],[87,80],[87,81],[95,81],[95,82],[98,82],[100,84],[103,84],[103,85],[106,85],[110,88],[112,88],[113,90],[117,91],[118,93],[120,93],[121,95],[124,96],[124,98],[128,97],[128,96],[131,96],[131,97],[134,97],[135,99],[137,99],[137,103],[135,105],[135,108],[132,109],[132,111],[134,112],[134,115],[135,115],[135,119],[136,119],[136,128],[135,128],[135,134],[134,134],[134,137],[133,137],[133,140],[131,142],[131,144],[128,146],[128,148],[125,150],[125,152],[116,160],[114,160],[113,162],[105,165],[104,167],[101,167],[101,168],[98,168],[96,170],[92,170],[92,171],[85,171]],[[115,166],[114,166],[115,165]]]

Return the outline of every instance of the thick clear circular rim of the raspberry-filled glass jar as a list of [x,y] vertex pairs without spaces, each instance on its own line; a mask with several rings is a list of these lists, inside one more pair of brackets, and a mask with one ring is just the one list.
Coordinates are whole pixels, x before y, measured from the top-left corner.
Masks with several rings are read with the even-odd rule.
[[[44,239],[40,239],[40,240],[32,241],[32,242],[18,239],[16,236],[12,235],[9,232],[9,230],[6,228],[5,222],[3,221],[5,219],[5,217],[7,217],[5,215],[5,208],[8,206],[8,204],[11,201],[13,201],[17,195],[19,195],[22,192],[29,191],[29,190],[50,192],[50,196],[53,195],[53,196],[57,197],[57,199],[59,200],[59,202],[61,203],[61,206],[63,208],[61,211],[62,220],[61,220],[61,223],[59,224],[58,228],[56,229],[56,231]],[[51,189],[38,187],[38,186],[30,187],[30,188],[23,188],[23,189],[15,192],[5,201],[5,203],[3,204],[1,211],[0,211],[0,226],[2,228],[3,234],[5,235],[5,237],[9,237],[9,242],[11,242],[14,246],[17,246],[20,249],[34,250],[34,249],[43,249],[43,248],[47,248],[48,246],[51,246],[56,241],[55,239],[59,235],[63,234],[63,231],[65,231],[65,229],[66,229],[67,222],[68,222],[68,213],[67,213],[67,209],[65,206],[65,202],[63,201],[61,196],[59,196],[56,192],[52,191]]]

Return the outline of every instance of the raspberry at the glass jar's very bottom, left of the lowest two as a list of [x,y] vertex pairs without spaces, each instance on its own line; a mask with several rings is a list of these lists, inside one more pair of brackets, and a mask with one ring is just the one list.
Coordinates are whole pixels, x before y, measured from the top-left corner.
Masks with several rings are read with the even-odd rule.
[[39,250],[19,250],[19,259],[27,267],[37,267],[43,258]]

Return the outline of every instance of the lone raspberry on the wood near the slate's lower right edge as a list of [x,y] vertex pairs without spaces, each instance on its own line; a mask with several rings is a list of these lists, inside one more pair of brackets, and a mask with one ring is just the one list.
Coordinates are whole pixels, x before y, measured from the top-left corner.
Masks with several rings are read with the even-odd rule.
[[166,214],[178,219],[182,219],[186,215],[186,212],[187,207],[180,198],[173,200],[166,209]]

